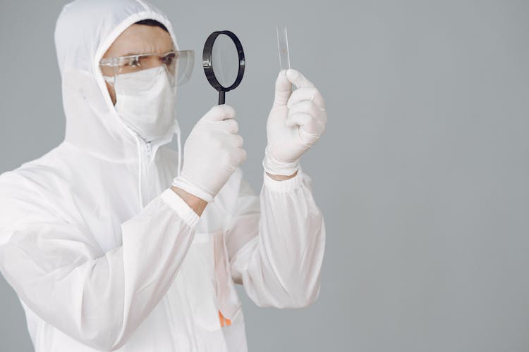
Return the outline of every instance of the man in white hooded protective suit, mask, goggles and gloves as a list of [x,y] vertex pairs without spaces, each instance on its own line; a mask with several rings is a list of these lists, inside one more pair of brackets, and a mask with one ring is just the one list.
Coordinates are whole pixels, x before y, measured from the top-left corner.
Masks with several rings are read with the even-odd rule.
[[174,94],[193,55],[157,8],[73,1],[55,42],[65,138],[0,175],[0,270],[36,351],[247,351],[234,284],[257,306],[315,301],[325,226],[299,164],[327,122],[314,84],[279,73],[257,196],[230,106],[181,158]]

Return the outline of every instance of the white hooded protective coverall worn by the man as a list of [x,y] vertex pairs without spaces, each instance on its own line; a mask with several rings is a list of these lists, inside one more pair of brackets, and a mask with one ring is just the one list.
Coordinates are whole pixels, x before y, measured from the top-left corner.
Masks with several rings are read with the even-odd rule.
[[180,160],[165,144],[178,130],[147,144],[118,117],[97,63],[147,18],[174,37],[144,1],[65,6],[65,139],[0,175],[0,270],[37,352],[247,351],[234,282],[279,308],[307,306],[320,290],[324,220],[303,170],[283,182],[263,175],[256,196],[237,168],[198,218],[168,188]]

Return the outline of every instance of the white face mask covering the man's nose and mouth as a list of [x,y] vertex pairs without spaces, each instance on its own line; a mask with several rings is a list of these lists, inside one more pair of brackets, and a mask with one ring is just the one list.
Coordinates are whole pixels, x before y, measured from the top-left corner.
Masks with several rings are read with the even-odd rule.
[[163,65],[118,75],[114,89],[118,115],[147,142],[164,137],[178,123],[176,89]]

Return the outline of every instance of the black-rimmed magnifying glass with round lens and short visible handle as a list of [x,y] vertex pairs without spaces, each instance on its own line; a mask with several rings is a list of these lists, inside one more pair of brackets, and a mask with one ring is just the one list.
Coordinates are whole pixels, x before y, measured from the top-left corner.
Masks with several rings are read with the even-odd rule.
[[219,105],[224,104],[226,92],[235,89],[243,80],[245,59],[238,37],[229,30],[209,34],[202,63],[209,84],[219,92]]

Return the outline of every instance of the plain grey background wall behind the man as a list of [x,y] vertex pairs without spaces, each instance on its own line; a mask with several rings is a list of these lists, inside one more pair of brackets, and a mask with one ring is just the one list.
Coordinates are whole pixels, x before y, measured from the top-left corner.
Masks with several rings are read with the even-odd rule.
[[[0,172],[63,139],[65,2],[1,2]],[[329,115],[303,157],[327,222],[320,299],[276,310],[243,296],[250,351],[529,351],[529,1],[220,2],[155,1],[197,51],[184,136],[217,99],[199,61],[214,30],[245,48],[226,101],[256,190],[276,23]],[[30,351],[4,281],[0,298],[1,351]]]

